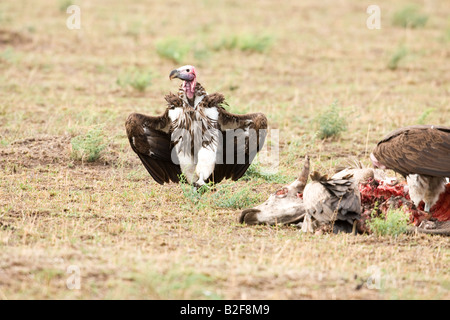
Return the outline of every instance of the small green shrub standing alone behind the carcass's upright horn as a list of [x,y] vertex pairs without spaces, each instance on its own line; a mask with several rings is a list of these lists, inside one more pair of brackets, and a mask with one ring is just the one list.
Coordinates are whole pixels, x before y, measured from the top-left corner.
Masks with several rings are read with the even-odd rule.
[[318,126],[317,136],[319,139],[337,137],[341,132],[347,130],[347,121],[340,116],[337,101],[334,101],[327,110],[316,116],[314,122]]

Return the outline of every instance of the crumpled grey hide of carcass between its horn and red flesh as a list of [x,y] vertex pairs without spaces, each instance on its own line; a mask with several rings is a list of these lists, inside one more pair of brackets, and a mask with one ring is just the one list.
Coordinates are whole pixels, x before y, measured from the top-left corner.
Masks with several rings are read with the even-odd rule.
[[320,223],[334,222],[336,231],[351,231],[361,213],[359,190],[352,176],[328,179],[314,172],[311,179],[303,192],[306,211]]

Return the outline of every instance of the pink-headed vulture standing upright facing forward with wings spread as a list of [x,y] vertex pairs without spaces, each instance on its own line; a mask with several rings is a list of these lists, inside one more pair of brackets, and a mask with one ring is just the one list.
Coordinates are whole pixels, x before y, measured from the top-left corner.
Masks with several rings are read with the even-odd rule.
[[183,82],[178,95],[165,97],[164,114],[133,113],[125,123],[131,148],[147,171],[160,184],[179,182],[183,173],[196,187],[242,177],[264,145],[267,118],[226,111],[223,95],[207,94],[193,66],[173,70],[169,78]]

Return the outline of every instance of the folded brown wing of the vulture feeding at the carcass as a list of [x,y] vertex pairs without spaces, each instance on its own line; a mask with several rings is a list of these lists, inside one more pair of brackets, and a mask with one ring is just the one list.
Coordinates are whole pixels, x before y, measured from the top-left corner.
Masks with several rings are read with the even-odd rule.
[[398,129],[378,142],[373,155],[403,176],[450,177],[450,127],[423,125]]

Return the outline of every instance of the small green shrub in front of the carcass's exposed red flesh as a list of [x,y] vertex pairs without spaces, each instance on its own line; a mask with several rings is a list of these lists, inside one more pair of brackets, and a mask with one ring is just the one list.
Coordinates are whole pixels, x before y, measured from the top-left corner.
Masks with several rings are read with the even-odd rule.
[[377,236],[398,236],[405,233],[409,225],[409,214],[401,209],[389,210],[386,215],[375,216],[372,212],[367,226]]

